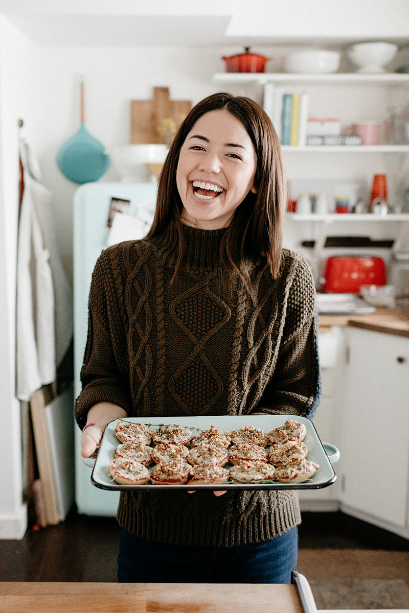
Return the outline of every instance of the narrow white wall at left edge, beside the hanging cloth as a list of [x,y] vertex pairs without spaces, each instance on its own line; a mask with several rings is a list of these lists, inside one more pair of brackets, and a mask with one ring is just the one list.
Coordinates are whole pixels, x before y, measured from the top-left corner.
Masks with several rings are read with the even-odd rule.
[[18,224],[18,119],[34,121],[31,44],[0,16],[0,538],[21,538],[20,403],[15,398],[15,279]]

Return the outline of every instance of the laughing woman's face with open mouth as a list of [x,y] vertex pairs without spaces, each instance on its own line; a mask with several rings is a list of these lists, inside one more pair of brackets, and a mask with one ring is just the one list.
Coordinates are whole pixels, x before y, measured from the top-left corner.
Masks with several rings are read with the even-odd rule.
[[183,223],[203,230],[228,226],[248,192],[256,193],[256,165],[241,121],[225,110],[202,115],[182,145],[176,170]]

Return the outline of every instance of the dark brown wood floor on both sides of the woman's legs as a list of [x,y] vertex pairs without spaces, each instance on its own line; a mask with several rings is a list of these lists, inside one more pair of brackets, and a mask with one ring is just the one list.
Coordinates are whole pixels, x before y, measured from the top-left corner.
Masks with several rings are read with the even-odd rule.
[[[396,568],[403,565],[408,573],[409,541],[341,512],[304,513],[299,547],[297,569],[308,579],[316,578],[318,562],[326,555],[332,563],[337,557],[342,560],[343,576],[356,576],[360,552],[367,568],[373,560],[379,572],[381,559],[390,570],[396,558]],[[342,555],[334,556],[334,550]],[[21,541],[0,541],[0,581],[115,582],[117,555],[117,521],[81,516],[73,509],[58,526],[29,527]],[[325,563],[321,566],[324,573]]]

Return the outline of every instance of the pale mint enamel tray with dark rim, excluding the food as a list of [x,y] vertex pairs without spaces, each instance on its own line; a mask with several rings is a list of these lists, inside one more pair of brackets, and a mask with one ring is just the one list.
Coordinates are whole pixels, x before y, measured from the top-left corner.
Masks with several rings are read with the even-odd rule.
[[[337,476],[335,475],[332,464],[337,462],[339,458],[339,451],[337,447],[330,443],[321,443],[315,426],[307,419],[307,417],[299,417],[297,415],[223,415],[223,416],[201,416],[201,417],[128,417],[124,421],[131,422],[132,424],[146,424],[152,430],[155,430],[159,425],[182,425],[189,428],[194,435],[201,430],[207,430],[211,426],[222,430],[222,432],[231,432],[237,428],[243,428],[246,425],[253,425],[256,428],[262,428],[264,432],[270,432],[274,428],[278,428],[284,424],[286,419],[294,419],[305,424],[307,433],[305,435],[304,443],[308,447],[307,460],[316,462],[319,464],[318,470],[315,472],[311,479],[303,483],[223,483],[223,484],[211,484],[211,485],[197,485],[197,484],[183,484],[183,485],[153,485],[147,483],[145,485],[120,485],[115,481],[112,481],[107,473],[107,466],[110,460],[114,459],[113,451],[120,441],[115,436],[115,425],[117,425],[119,419],[115,419],[110,422],[105,428],[104,435],[102,436],[101,445],[99,446],[96,459],[85,459],[85,463],[88,466],[93,466],[91,473],[91,483],[96,487],[104,490],[151,490],[152,488],[162,490],[164,489],[183,489],[183,490],[286,490],[286,489],[318,489],[321,487],[327,487],[334,483]],[[328,455],[327,452],[330,452]],[[230,464],[226,464],[225,468],[230,468]]]

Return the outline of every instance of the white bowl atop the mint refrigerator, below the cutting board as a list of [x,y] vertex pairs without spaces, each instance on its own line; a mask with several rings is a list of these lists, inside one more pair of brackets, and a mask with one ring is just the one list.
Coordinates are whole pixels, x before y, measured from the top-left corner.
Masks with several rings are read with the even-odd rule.
[[167,145],[155,143],[123,145],[112,149],[111,159],[121,175],[121,181],[138,183],[153,180],[153,174],[147,164],[161,164],[165,161],[168,151]]

